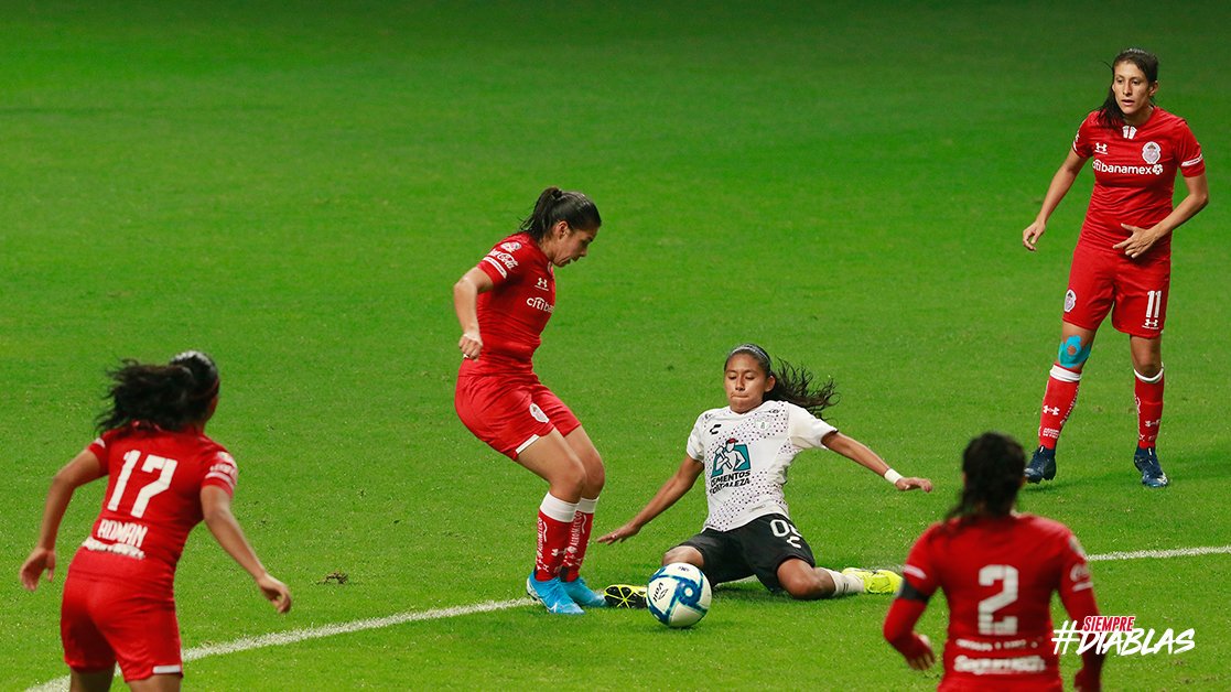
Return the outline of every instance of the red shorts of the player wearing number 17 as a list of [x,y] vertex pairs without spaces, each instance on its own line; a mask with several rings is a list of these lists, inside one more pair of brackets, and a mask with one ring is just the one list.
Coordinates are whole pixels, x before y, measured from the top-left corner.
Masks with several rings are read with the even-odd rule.
[[134,591],[130,582],[95,580],[74,574],[70,566],[64,580],[60,640],[64,662],[78,672],[111,670],[118,662],[126,681],[183,675],[180,623],[170,590]]

